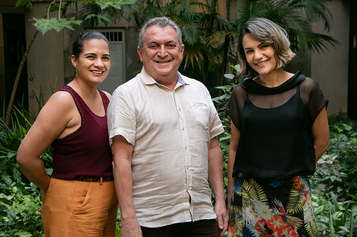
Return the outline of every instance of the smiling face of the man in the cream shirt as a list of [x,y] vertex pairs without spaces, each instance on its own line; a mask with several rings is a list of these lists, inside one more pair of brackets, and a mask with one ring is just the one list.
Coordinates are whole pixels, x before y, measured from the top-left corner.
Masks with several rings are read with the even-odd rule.
[[146,29],[143,49],[137,47],[137,53],[148,75],[159,82],[174,82],[183,58],[184,45],[180,46],[174,28],[152,25]]

